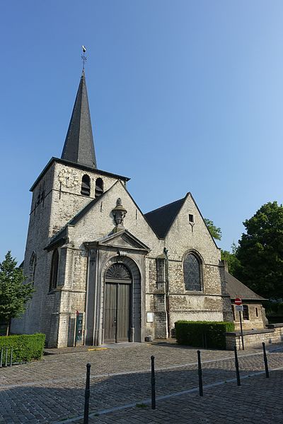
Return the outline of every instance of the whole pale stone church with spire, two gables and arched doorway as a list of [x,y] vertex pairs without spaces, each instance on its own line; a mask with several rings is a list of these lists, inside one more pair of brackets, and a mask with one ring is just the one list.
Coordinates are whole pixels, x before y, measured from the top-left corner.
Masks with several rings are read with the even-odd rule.
[[24,273],[35,293],[14,333],[47,346],[99,346],[171,336],[178,319],[232,321],[220,249],[192,194],[146,213],[129,178],[98,170],[81,76],[62,158],[31,191]]

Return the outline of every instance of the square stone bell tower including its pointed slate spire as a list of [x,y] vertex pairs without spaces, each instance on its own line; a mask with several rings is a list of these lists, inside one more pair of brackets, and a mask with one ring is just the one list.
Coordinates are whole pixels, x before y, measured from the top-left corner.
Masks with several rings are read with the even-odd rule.
[[71,237],[62,234],[83,208],[99,201],[118,179],[126,184],[129,178],[97,169],[83,69],[62,156],[51,158],[30,188],[33,198],[24,273],[33,281],[35,293],[23,319],[13,321],[13,332],[42,332],[47,346],[58,346],[59,329],[69,322],[64,312],[69,296],[66,283],[72,278],[68,261],[76,257]]

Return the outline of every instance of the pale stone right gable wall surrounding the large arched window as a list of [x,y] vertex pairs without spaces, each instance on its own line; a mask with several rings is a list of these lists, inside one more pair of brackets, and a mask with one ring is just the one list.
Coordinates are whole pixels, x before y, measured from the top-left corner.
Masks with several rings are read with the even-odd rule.
[[[194,223],[189,222],[189,214]],[[192,196],[188,194],[165,239],[169,259],[171,328],[178,319],[190,321],[223,321],[224,310],[230,310],[226,295],[224,266]],[[187,252],[202,258],[202,293],[185,290],[183,259]],[[226,319],[226,317],[225,317]]]

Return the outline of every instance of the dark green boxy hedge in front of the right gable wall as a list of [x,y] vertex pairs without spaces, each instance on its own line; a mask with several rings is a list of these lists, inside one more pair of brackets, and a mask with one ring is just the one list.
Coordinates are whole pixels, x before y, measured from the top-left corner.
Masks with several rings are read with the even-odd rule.
[[226,331],[233,331],[233,322],[177,321],[175,322],[177,343],[202,347],[226,348]]

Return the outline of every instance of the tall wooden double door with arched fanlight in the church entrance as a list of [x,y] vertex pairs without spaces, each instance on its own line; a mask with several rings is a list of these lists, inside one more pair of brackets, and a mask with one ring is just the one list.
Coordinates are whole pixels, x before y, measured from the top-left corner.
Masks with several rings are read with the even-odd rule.
[[122,263],[112,264],[105,273],[104,341],[130,340],[132,276]]

